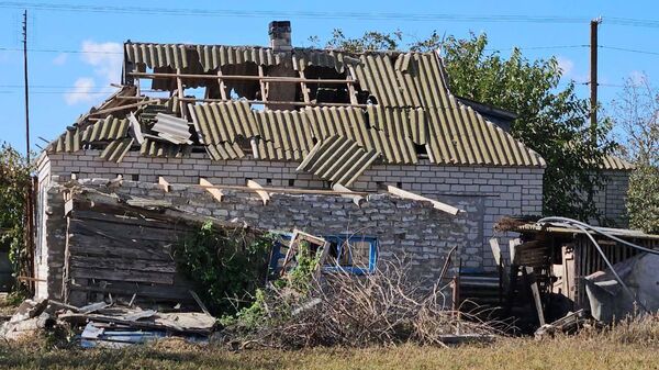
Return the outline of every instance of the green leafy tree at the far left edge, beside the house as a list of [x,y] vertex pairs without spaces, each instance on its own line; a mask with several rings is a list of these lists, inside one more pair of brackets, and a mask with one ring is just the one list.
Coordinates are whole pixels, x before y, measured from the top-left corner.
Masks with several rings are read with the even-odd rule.
[[30,166],[9,144],[0,146],[0,250],[9,250],[14,271],[22,271],[25,249],[25,203]]

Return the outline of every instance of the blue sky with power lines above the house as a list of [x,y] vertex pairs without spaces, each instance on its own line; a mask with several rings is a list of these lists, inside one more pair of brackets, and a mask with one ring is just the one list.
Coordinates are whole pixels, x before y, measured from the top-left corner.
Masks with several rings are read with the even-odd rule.
[[[406,41],[487,33],[489,49],[514,46],[556,56],[561,85],[589,97],[590,20],[602,16],[600,102],[606,110],[625,79],[659,82],[657,1],[0,1],[0,143],[25,152],[22,14],[29,13],[30,131],[40,152],[120,82],[122,43],[267,45],[268,22],[290,20],[295,46],[310,36],[348,37],[400,30]],[[624,48],[626,51],[621,51]],[[630,52],[629,49],[634,51]],[[38,145],[38,146],[37,146]]]

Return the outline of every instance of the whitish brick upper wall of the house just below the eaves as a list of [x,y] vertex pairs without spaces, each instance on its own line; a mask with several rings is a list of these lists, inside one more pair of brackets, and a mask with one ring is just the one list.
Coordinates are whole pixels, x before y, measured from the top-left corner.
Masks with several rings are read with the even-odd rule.
[[[115,178],[157,182],[165,177],[170,183],[198,183],[204,177],[214,184],[244,186],[252,179],[265,187],[326,188],[322,179],[305,172],[297,172],[297,162],[266,160],[210,161],[205,154],[192,154],[188,158],[150,158],[129,153],[120,164],[99,158],[98,150],[75,154],[52,154],[42,176],[58,176],[58,181],[70,179]],[[375,165],[350,187],[358,191],[378,191],[381,186],[392,184],[448,204],[460,205],[467,211],[466,229],[461,237],[467,240],[465,253],[470,256],[466,267],[493,267],[488,239],[494,235],[493,225],[506,215],[539,214],[543,203],[543,173],[539,168],[437,166],[420,160],[416,166]],[[43,209],[43,208],[42,208]],[[506,235],[501,244],[507,246]]]

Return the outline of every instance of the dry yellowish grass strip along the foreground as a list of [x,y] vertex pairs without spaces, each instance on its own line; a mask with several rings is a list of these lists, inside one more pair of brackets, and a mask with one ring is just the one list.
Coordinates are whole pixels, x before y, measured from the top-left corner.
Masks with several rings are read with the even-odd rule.
[[503,338],[443,349],[398,347],[253,349],[163,340],[123,350],[47,349],[33,339],[0,345],[1,369],[659,369],[659,318],[552,339]]

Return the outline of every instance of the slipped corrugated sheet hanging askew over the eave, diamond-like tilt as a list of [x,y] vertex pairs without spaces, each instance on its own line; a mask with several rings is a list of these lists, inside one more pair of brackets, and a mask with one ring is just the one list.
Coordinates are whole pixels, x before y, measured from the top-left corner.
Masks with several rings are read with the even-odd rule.
[[349,187],[378,157],[376,150],[366,152],[345,136],[331,136],[313,147],[298,171]]

